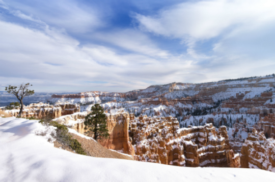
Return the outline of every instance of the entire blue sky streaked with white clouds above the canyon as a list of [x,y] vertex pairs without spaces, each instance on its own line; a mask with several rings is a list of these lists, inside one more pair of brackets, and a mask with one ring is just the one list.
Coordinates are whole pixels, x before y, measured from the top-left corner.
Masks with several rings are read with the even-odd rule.
[[127,92],[273,74],[273,0],[0,0],[0,91]]

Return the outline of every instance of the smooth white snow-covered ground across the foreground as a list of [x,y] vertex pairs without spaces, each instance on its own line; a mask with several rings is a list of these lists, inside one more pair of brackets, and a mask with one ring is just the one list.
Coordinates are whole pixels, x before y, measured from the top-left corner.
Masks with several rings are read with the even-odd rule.
[[272,172],[94,158],[57,149],[35,120],[0,118],[0,181],[270,181]]

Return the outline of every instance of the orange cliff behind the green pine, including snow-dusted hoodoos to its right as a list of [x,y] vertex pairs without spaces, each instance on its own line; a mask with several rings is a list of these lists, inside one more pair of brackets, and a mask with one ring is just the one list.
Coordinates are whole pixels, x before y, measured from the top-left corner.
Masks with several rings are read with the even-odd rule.
[[[87,112],[54,119],[85,134]],[[226,127],[218,132],[212,124],[179,129],[173,117],[151,118],[124,111],[106,114],[110,137],[98,140],[106,149],[133,156],[135,160],[188,167],[239,167],[239,156],[229,148]]]

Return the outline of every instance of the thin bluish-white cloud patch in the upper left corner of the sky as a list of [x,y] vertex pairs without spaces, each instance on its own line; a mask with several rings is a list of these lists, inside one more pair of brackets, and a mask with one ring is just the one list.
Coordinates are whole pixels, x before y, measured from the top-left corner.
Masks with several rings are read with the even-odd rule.
[[[70,32],[85,33],[104,26],[100,12],[74,0],[33,1],[29,4],[14,0],[4,5],[20,18],[37,20],[39,17],[46,24],[65,28]],[[15,11],[14,8],[20,11]]]

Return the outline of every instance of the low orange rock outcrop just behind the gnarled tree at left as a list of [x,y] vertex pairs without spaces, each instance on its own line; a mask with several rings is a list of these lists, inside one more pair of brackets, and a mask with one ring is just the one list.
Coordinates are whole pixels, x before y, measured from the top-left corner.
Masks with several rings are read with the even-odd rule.
[[[5,112],[17,116],[20,110],[6,110]],[[22,117],[23,118],[58,118],[64,115],[70,115],[76,112],[80,112],[80,106],[78,104],[71,103],[57,103],[54,105],[46,103],[32,103],[28,106],[23,107]]]

